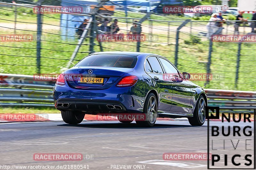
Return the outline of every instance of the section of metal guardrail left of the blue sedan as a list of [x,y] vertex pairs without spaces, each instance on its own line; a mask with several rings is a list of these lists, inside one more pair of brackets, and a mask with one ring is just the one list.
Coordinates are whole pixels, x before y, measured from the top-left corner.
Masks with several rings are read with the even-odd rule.
[[54,79],[0,74],[0,107],[54,107]]

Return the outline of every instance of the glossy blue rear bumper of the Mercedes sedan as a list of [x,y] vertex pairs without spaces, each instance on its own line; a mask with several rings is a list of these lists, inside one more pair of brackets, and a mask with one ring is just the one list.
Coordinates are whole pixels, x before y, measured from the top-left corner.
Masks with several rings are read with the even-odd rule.
[[[87,113],[143,113],[145,97],[137,96],[135,87],[111,87],[104,90],[72,89],[56,85],[53,91],[58,110],[76,110]],[[146,93],[140,93],[145,95]],[[62,103],[58,105],[58,103]],[[65,103],[63,107],[63,103]],[[110,108],[107,105],[112,105]],[[116,108],[115,108],[116,106]],[[121,109],[118,109],[120,108]]]

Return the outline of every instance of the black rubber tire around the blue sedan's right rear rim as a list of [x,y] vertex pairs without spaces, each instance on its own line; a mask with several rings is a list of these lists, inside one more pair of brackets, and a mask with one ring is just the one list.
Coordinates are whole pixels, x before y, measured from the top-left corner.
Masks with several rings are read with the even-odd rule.
[[[151,117],[149,117],[150,112],[148,112],[148,107],[149,107],[150,100],[152,98],[154,98],[154,100],[156,101],[154,109],[153,109],[153,110],[156,111],[156,115],[155,114],[152,115],[152,119],[151,119]],[[156,123],[156,118],[157,118],[157,109],[158,109],[158,103],[157,103],[157,100],[156,100],[156,96],[153,93],[149,93],[147,99],[145,100],[144,107],[143,107],[143,114],[146,116],[145,120],[144,121],[139,121],[139,120],[137,121],[135,119],[136,123],[139,126],[143,126],[143,127],[152,127],[152,126],[154,126],[155,123]],[[153,111],[151,110],[151,113],[152,112]]]

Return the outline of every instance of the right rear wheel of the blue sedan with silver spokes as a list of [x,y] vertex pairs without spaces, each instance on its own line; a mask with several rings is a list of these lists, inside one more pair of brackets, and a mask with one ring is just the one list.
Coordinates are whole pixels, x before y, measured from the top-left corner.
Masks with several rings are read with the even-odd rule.
[[157,100],[153,93],[149,93],[148,97],[144,103],[143,113],[146,118],[143,121],[135,120],[138,125],[152,127],[156,123],[157,117]]

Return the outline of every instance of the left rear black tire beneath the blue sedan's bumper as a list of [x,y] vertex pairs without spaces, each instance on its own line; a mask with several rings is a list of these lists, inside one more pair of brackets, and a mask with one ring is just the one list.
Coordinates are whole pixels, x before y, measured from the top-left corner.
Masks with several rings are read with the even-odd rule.
[[84,113],[75,113],[73,111],[61,111],[62,119],[68,124],[79,124],[84,119]]

